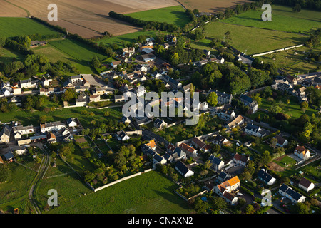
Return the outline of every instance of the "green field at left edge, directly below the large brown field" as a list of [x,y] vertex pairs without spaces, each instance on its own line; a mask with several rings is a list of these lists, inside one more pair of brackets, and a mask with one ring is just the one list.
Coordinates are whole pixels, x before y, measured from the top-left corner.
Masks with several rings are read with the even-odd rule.
[[26,18],[0,18],[0,36],[1,37],[14,37],[21,35],[51,35],[58,32],[48,28],[42,24]]

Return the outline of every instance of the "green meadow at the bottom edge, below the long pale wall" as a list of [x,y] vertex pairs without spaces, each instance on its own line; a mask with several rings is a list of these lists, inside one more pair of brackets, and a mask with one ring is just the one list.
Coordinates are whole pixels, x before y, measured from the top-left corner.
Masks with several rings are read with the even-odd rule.
[[[178,187],[158,172],[147,172],[98,192],[92,192],[76,175],[56,177],[41,182],[36,199],[42,207],[48,199],[47,191],[58,192],[59,207],[48,213],[55,214],[188,214],[193,210],[175,195]],[[84,195],[86,193],[86,195]],[[46,213],[46,212],[45,212]]]

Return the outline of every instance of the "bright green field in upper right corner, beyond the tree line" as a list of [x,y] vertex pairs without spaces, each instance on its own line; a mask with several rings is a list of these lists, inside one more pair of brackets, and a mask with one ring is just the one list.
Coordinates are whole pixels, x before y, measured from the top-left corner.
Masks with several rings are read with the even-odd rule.
[[246,11],[223,22],[296,33],[307,33],[312,28],[321,28],[321,17],[318,11],[302,10],[300,13],[295,13],[290,7],[272,5],[272,21],[263,21],[262,13],[261,9]]

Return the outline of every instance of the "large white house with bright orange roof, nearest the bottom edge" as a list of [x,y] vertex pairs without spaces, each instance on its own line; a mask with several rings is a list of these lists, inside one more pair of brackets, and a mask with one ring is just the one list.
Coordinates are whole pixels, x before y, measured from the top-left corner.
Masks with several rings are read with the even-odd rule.
[[236,192],[240,187],[240,179],[238,176],[232,177],[229,180],[221,183],[220,185],[215,185],[213,192],[218,194],[220,197],[225,199],[231,205],[235,205],[238,202],[238,198],[235,197],[234,192]]

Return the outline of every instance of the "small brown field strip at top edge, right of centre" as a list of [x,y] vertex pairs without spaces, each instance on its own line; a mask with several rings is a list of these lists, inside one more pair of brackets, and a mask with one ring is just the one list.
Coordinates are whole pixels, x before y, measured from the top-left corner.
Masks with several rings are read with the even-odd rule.
[[200,12],[218,13],[238,4],[251,2],[248,0],[178,0],[188,9],[198,9]]

